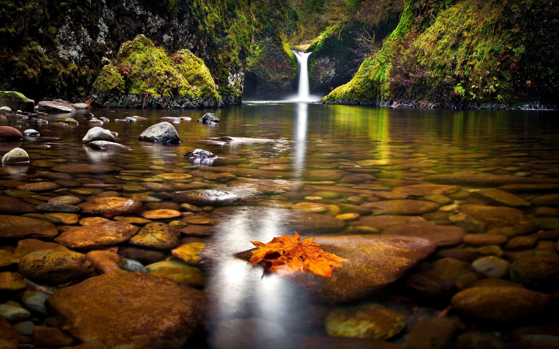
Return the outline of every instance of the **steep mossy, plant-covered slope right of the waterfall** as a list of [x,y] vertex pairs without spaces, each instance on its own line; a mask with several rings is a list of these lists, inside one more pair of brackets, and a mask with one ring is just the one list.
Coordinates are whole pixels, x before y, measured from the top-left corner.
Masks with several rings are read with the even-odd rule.
[[397,28],[326,101],[553,102],[556,0],[408,0]]

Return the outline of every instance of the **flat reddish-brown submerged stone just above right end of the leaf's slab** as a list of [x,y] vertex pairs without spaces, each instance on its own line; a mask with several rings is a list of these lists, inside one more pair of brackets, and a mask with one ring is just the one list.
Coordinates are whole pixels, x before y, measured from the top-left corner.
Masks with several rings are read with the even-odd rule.
[[437,247],[461,243],[462,238],[466,235],[466,231],[462,228],[435,224],[397,224],[386,228],[382,233],[425,238]]

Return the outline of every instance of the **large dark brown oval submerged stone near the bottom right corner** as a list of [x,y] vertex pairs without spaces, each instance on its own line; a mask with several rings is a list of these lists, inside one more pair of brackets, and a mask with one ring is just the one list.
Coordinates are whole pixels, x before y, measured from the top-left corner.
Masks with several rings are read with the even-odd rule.
[[509,322],[542,312],[549,304],[543,293],[515,287],[473,287],[452,298],[454,310],[495,322]]

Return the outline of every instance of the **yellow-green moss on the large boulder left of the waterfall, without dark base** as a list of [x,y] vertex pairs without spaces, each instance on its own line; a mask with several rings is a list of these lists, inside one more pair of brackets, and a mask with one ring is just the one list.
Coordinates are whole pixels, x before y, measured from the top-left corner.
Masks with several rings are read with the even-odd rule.
[[144,35],[120,46],[116,66],[108,64],[101,69],[93,90],[102,94],[148,93],[163,98],[220,98],[203,60],[187,49],[169,54]]

